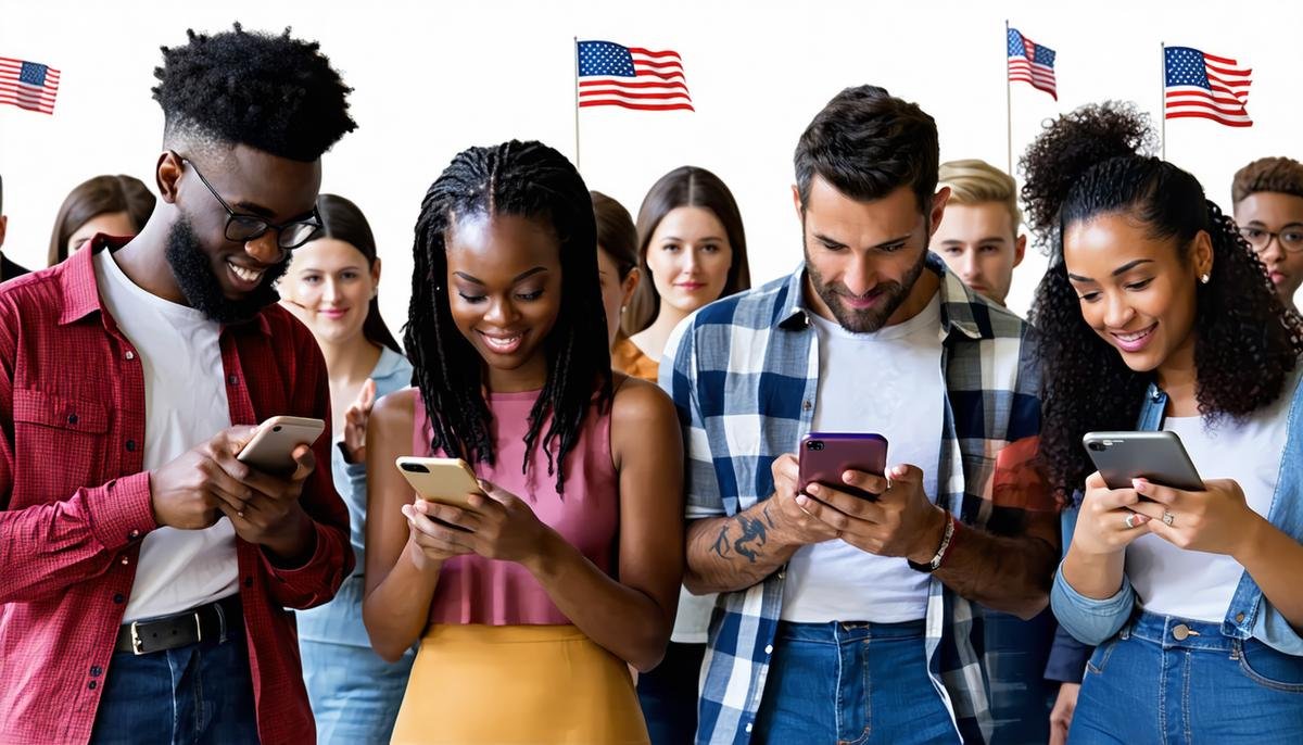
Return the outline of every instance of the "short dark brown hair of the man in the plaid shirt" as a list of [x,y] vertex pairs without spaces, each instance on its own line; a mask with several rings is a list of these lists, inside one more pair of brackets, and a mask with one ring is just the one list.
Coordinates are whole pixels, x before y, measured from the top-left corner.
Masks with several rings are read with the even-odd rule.
[[883,87],[848,87],[814,115],[796,142],[792,160],[803,206],[814,176],[820,176],[861,202],[908,186],[919,211],[926,212],[941,162],[937,122],[917,104]]

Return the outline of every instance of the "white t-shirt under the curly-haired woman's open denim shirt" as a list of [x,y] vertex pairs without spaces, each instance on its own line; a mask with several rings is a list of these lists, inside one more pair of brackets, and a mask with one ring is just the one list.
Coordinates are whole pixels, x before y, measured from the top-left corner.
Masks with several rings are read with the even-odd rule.
[[[1265,517],[1280,479],[1296,380],[1291,376],[1276,402],[1243,423],[1224,421],[1207,430],[1201,417],[1167,417],[1162,429],[1177,432],[1200,477],[1234,479],[1250,509]],[[1179,509],[1173,511],[1173,518],[1179,526]],[[1157,535],[1143,535],[1128,546],[1126,567],[1147,611],[1213,623],[1226,617],[1244,573],[1230,556],[1177,548]]]

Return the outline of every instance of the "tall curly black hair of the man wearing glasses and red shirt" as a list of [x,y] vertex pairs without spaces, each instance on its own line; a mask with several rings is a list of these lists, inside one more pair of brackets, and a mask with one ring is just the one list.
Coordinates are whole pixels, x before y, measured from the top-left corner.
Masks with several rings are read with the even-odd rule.
[[154,99],[165,138],[201,145],[241,143],[310,163],[357,129],[348,115],[352,91],[317,42],[245,31],[186,31],[184,47],[163,47]]

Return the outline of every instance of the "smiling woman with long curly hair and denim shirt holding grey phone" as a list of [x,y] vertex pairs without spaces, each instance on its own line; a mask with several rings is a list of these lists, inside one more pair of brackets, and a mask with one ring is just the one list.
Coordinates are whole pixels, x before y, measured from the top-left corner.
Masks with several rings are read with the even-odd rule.
[[[1070,741],[1299,742],[1303,324],[1195,177],[1143,154],[1151,143],[1130,105],[1091,105],[1023,159],[1052,253],[1032,307],[1042,456],[1059,494],[1084,490],[1052,604],[1098,645]],[[1130,429],[1179,434],[1217,478],[1108,488],[1081,436]]]

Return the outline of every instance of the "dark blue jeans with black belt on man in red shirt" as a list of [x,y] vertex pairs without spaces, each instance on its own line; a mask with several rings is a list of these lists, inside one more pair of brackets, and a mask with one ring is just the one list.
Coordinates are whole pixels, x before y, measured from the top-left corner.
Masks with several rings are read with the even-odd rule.
[[113,653],[95,714],[94,745],[258,742],[244,629],[229,637],[134,655]]

